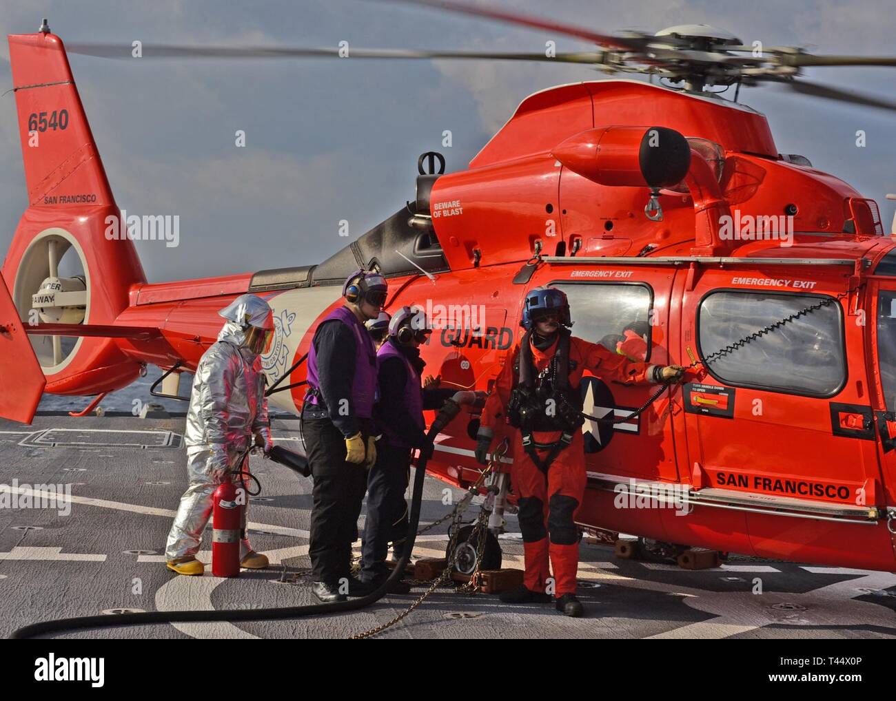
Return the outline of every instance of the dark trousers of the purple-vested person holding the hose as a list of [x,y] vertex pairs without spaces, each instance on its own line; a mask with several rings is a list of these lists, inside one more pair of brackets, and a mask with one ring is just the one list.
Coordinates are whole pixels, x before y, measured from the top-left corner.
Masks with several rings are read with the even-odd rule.
[[364,564],[361,579],[370,581],[388,574],[386,555],[389,542],[408,535],[408,489],[410,449],[397,449],[376,443],[376,464],[367,478],[367,517],[361,552]]

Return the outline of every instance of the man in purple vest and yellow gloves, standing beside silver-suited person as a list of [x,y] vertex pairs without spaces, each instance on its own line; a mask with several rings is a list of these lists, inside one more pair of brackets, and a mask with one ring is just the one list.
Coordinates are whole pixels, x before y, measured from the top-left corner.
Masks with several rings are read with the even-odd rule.
[[312,591],[324,603],[373,591],[349,566],[367,470],[376,461],[376,351],[364,322],[377,317],[387,292],[378,272],[356,270],[342,286],[345,304],[321,321],[308,351],[301,424],[314,478],[308,554]]

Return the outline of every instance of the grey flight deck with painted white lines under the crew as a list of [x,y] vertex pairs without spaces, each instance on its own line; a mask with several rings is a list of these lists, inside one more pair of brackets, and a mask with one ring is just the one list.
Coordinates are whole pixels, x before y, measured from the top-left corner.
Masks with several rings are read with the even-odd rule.
[[[275,442],[296,447],[297,425],[275,419]],[[183,428],[182,417],[39,415],[30,426],[0,421],[0,635],[40,620],[104,611],[114,622],[114,611],[121,610],[316,603],[303,574],[311,482],[263,457],[251,458],[263,492],[251,503],[249,534],[271,566],[234,579],[212,577],[211,568],[204,577],[178,577],[165,568],[165,539],[186,481]],[[71,485],[71,500],[62,509],[34,508],[24,497],[44,489],[38,485],[62,493]],[[454,503],[464,493],[427,477],[421,526],[449,510],[446,489]],[[472,507],[467,520],[477,510]],[[415,558],[444,556],[446,526],[418,537]],[[504,567],[521,568],[516,517],[507,517],[506,530],[500,539]],[[200,552],[205,562],[210,531]],[[358,541],[356,554],[359,548]],[[381,637],[896,637],[892,573],[737,557],[720,568],[686,570],[616,559],[611,548],[589,543],[582,543],[581,560],[585,618],[446,586]],[[757,586],[762,594],[754,594]],[[59,637],[350,637],[391,620],[425,589],[336,616],[115,627]]]

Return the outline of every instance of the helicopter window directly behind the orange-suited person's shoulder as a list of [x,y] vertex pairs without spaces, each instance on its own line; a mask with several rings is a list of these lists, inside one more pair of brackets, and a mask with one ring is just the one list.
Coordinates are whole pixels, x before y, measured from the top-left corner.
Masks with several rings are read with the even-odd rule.
[[569,297],[573,332],[607,350],[645,362],[650,358],[649,286],[614,283],[551,284]]

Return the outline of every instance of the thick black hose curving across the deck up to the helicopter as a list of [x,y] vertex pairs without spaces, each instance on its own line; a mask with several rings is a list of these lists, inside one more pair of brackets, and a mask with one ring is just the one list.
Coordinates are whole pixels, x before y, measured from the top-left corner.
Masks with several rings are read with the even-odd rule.
[[[436,420],[430,428],[427,438],[432,440],[439,431],[444,428],[444,423]],[[344,611],[357,611],[376,603],[390,587],[404,576],[404,569],[408,566],[410,553],[414,549],[414,541],[417,538],[417,527],[420,520],[420,503],[423,500],[423,483],[426,479],[426,450],[420,451],[418,458],[417,474],[414,477],[414,492],[411,495],[411,507],[409,517],[409,540],[404,543],[401,559],[392,570],[392,574],[378,586],[375,591],[366,596],[349,599],[344,602],[316,603],[306,606],[286,606],[271,609],[230,609],[221,611],[145,611],[142,613],[121,613],[115,616],[79,616],[72,619],[43,620],[13,630],[10,639],[22,640],[29,637],[47,635],[47,633],[61,633],[65,630],[78,630],[82,628],[116,628],[119,626],[148,626],[160,623],[197,623],[209,621],[237,621],[237,620],[287,620],[301,616],[320,616],[330,613],[342,613]],[[358,469],[363,469],[358,467]]]

